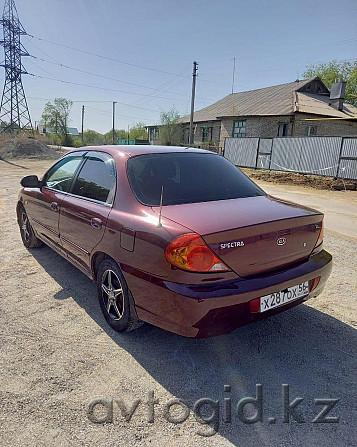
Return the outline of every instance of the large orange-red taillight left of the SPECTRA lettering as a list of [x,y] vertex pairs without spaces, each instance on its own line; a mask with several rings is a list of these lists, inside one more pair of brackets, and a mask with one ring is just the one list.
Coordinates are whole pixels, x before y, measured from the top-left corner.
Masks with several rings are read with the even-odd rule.
[[191,272],[227,272],[230,269],[205,244],[196,233],[183,234],[166,248],[170,264]]

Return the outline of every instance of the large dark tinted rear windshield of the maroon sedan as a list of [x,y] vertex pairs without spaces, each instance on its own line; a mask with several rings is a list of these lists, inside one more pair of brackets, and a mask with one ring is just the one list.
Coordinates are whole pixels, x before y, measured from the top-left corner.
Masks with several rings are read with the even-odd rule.
[[215,154],[147,154],[129,158],[131,188],[144,205],[210,202],[265,195],[232,163]]

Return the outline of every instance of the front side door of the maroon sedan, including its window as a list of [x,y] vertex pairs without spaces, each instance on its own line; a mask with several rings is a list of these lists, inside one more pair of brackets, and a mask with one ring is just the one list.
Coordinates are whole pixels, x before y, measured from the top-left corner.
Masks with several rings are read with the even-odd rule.
[[59,209],[70,190],[74,174],[83,161],[84,152],[68,154],[44,175],[42,186],[28,204],[31,224],[46,243],[60,248]]

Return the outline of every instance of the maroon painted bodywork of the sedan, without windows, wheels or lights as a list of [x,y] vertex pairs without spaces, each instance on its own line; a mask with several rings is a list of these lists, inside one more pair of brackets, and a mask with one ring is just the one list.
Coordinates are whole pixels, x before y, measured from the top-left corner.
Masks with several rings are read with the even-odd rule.
[[[80,149],[83,151],[83,148]],[[251,314],[249,301],[321,276],[312,296],[323,289],[331,256],[313,252],[323,215],[271,196],[164,206],[162,227],[158,208],[135,198],[126,175],[126,161],[147,153],[201,152],[160,146],[88,147],[110,154],[117,170],[113,206],[81,199],[48,188],[23,188],[31,224],[45,243],[89,277],[99,254],[121,267],[139,318],[169,331],[206,337],[287,310],[302,300]],[[211,155],[215,156],[215,155]],[[54,211],[51,204],[57,203]],[[95,224],[93,226],[93,219]],[[231,269],[193,273],[173,268],[165,258],[167,245],[184,233],[200,234]],[[277,245],[277,238],[286,243]],[[221,248],[243,241],[244,245]],[[313,252],[313,253],[312,253]]]

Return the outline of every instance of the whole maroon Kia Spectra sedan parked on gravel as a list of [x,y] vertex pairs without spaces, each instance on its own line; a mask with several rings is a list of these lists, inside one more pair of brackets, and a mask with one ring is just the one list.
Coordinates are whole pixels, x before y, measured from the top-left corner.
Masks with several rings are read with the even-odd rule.
[[45,243],[91,278],[119,332],[226,334],[316,297],[331,272],[323,214],[208,151],[84,147],[21,184],[25,247]]

